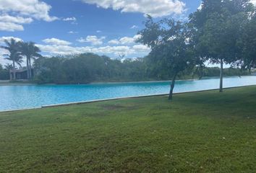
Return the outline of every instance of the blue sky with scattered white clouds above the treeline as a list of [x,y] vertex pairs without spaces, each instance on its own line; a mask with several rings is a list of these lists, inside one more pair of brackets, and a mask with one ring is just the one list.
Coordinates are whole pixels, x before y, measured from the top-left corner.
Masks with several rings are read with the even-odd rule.
[[15,37],[35,42],[48,56],[142,57],[149,49],[134,40],[145,14],[186,19],[198,6],[200,0],[0,0],[0,44]]

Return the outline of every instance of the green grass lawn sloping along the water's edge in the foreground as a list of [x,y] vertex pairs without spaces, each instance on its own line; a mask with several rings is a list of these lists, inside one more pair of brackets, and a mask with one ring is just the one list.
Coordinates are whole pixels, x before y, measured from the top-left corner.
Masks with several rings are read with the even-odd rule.
[[256,86],[0,113],[0,172],[256,172]]

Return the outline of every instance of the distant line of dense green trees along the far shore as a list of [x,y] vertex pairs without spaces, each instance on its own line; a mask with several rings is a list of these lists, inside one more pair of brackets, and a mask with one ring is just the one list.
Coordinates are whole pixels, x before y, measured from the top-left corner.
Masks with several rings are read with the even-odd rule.
[[[107,56],[85,53],[77,56],[38,58],[35,79],[38,84],[88,84],[98,81],[170,80],[171,74],[147,63],[147,57],[136,60],[113,60]],[[154,68],[153,68],[154,67]],[[1,73],[1,72],[0,72]],[[219,76],[218,67],[193,68],[179,74],[178,79]],[[225,76],[248,75],[239,68],[224,69]],[[6,75],[6,74],[4,74]],[[2,78],[2,76],[0,76]]]

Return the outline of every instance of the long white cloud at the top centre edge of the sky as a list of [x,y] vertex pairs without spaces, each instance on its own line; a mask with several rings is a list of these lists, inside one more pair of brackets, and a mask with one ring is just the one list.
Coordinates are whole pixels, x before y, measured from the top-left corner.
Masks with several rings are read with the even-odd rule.
[[87,4],[96,4],[104,9],[121,12],[140,12],[152,17],[164,17],[170,14],[182,14],[185,4],[181,0],[82,0]]

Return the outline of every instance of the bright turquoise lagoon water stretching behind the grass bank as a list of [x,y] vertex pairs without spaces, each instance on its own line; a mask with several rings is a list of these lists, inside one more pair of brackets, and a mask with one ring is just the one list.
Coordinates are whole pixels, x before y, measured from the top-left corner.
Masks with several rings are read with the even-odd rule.
[[[252,84],[256,84],[256,76],[242,76],[241,78],[229,77],[223,81],[224,87]],[[218,78],[176,81],[174,92],[217,89],[218,86]],[[0,86],[0,111],[89,101],[93,99],[167,94],[169,89],[169,81],[87,85]]]

